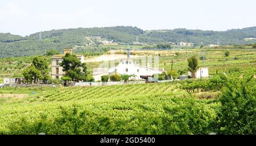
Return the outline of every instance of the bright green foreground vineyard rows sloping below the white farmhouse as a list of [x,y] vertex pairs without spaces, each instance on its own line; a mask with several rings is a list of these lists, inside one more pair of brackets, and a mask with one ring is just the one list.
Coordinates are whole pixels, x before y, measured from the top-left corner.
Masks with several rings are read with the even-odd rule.
[[[197,100],[171,83],[61,87],[1,100],[2,134],[207,134],[218,107],[214,100]],[[192,127],[184,121],[191,114],[198,117]],[[69,129],[75,119],[82,122],[82,131]],[[71,121],[55,127],[56,120]],[[166,120],[175,122],[167,126]]]

